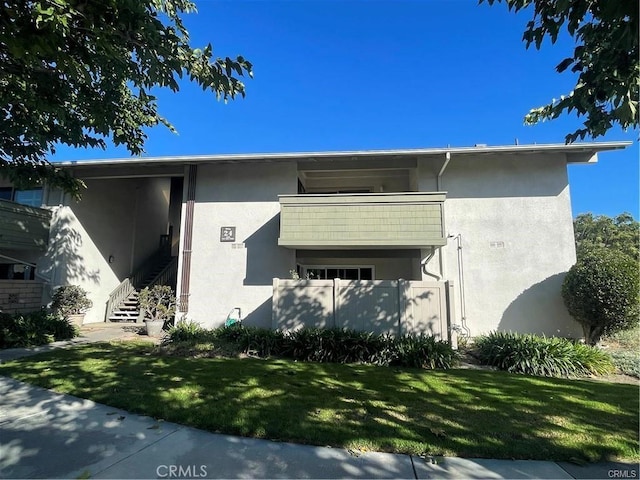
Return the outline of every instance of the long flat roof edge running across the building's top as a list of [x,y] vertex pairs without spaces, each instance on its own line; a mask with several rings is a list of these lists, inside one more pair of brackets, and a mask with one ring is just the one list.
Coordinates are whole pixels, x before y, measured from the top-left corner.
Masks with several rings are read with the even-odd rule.
[[439,147],[392,150],[350,150],[350,151],[322,151],[322,152],[284,152],[284,153],[240,153],[216,155],[180,155],[161,157],[129,157],[119,159],[78,160],[54,162],[62,167],[75,166],[136,166],[136,165],[179,165],[198,163],[236,163],[283,160],[312,160],[312,159],[355,159],[368,157],[429,157],[450,155],[469,156],[487,155],[494,153],[535,154],[535,153],[564,153],[569,163],[592,163],[597,161],[598,152],[608,150],[622,150],[633,142],[591,142],[591,143],[554,143],[528,145],[475,145],[473,147]]

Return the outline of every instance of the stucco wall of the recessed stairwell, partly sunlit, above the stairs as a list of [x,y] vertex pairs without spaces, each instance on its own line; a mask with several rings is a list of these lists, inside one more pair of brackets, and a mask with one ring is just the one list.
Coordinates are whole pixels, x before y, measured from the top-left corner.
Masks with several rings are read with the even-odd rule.
[[49,248],[38,265],[51,287],[87,290],[93,307],[84,321],[94,323],[104,321],[113,289],[158,248],[167,226],[169,180],[92,179],[86,184],[80,202],[53,207]]

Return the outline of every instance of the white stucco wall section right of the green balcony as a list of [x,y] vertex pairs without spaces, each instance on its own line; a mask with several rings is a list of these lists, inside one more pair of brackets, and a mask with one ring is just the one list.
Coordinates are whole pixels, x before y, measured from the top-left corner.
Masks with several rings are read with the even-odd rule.
[[[419,170],[421,188],[433,171]],[[563,155],[452,157],[440,189],[447,192],[445,227],[461,235],[443,248],[445,279],[453,280],[456,323],[471,335],[492,330],[580,336],[560,295],[575,262],[566,161]],[[438,258],[431,264],[437,270]]]

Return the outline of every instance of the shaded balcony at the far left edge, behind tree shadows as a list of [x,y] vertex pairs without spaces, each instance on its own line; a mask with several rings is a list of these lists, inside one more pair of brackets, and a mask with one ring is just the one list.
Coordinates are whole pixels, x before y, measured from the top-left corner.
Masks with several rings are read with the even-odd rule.
[[0,200],[0,248],[46,249],[50,222],[48,210]]

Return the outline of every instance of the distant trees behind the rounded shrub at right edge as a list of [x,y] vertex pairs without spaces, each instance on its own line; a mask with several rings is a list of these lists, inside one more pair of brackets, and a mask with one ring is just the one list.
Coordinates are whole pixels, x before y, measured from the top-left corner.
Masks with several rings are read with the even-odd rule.
[[614,218],[581,213],[573,221],[573,231],[578,259],[594,249],[608,248],[640,260],[640,224],[630,213]]

